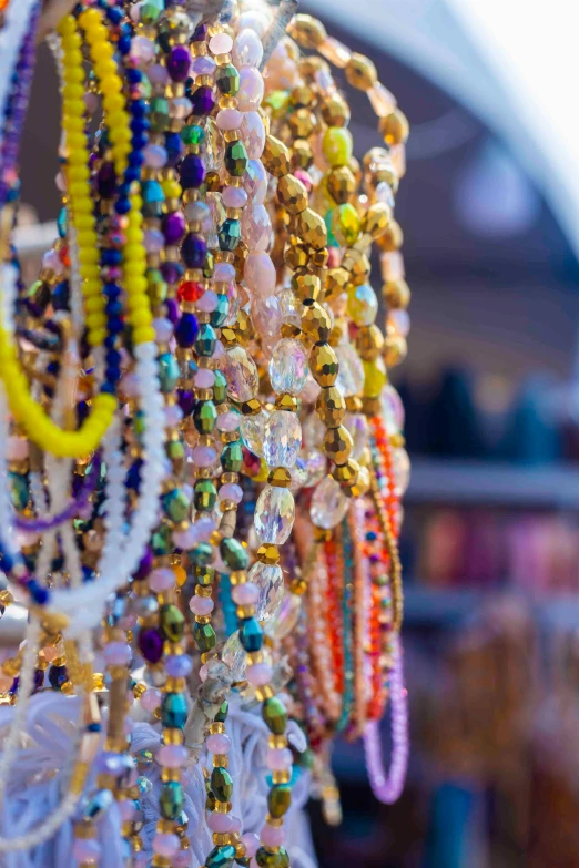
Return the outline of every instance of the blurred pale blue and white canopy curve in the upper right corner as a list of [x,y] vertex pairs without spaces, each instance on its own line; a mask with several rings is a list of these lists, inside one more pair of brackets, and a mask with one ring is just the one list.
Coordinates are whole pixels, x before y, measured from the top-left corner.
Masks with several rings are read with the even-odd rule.
[[500,136],[579,258],[579,3],[572,0],[307,0],[392,54]]

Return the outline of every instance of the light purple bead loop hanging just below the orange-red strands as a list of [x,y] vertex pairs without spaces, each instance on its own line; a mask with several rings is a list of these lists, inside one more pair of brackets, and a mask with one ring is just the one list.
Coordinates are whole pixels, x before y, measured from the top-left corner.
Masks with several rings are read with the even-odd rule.
[[390,677],[392,760],[388,773],[384,769],[379,725],[370,721],[364,733],[366,769],[376,798],[393,805],[400,797],[408,769],[408,704],[404,685],[404,666],[400,640],[394,640],[394,668]]

